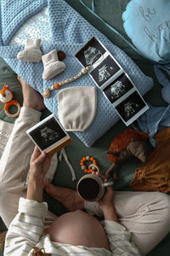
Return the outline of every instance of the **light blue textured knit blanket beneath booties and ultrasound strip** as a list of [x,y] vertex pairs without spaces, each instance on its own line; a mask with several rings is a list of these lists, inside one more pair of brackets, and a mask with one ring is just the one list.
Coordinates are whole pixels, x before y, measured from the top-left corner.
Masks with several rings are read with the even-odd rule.
[[[24,49],[24,45],[8,45],[14,32],[17,31],[23,22],[32,15],[37,14],[37,12],[46,5],[48,5],[48,19],[52,38],[47,44],[42,44],[42,55],[47,54],[52,49],[63,50],[66,54],[65,72],[60,73],[54,79],[48,81],[42,79],[42,61],[38,63],[18,61],[16,56],[21,49]],[[133,80],[133,83],[142,96],[152,88],[152,79],[145,76],[122,49],[112,44],[108,38],[95,29],[94,26],[90,25],[87,20],[83,19],[82,16],[72,9],[69,4],[65,3],[64,0],[3,0],[1,1],[0,8],[0,55],[15,73],[18,73],[22,79],[25,79],[28,84],[31,84],[31,86],[41,94],[44,89],[51,87],[51,85],[63,79],[71,78],[80,72],[82,65],[77,61],[74,55],[77,50],[93,36],[99,38],[111,54],[114,55],[125,72],[127,72],[129,77]],[[88,75],[82,76],[81,79],[71,84],[65,84],[64,88],[86,85],[96,86]],[[56,93],[56,90],[53,91],[52,96],[45,99],[45,105],[51,112],[58,116]],[[86,131],[75,132],[77,137],[79,137],[82,143],[87,147],[92,146],[99,137],[104,135],[105,132],[119,120],[111,103],[106,99],[99,88],[97,89],[97,94],[98,109],[92,125],[90,125]]]

